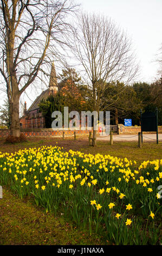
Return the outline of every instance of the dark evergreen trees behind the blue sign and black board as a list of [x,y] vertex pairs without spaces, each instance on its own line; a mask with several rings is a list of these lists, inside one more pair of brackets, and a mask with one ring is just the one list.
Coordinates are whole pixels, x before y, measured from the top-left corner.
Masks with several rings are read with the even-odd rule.
[[102,109],[111,112],[111,124],[124,124],[125,118],[132,119],[132,125],[140,125],[142,112],[154,112],[158,108],[158,125],[162,124],[161,80],[152,84],[145,82],[125,86],[124,83],[110,83],[102,98]]

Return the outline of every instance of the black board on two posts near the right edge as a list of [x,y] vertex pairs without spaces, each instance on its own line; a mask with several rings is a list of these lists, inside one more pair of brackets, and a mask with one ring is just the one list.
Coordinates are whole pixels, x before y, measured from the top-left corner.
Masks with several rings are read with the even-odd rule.
[[155,112],[145,112],[141,114],[141,142],[143,142],[142,132],[157,132],[157,144],[158,144],[158,108]]

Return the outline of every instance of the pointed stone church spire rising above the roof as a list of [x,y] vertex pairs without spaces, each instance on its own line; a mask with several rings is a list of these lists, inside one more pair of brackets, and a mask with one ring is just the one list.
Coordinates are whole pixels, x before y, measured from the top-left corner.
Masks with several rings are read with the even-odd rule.
[[51,65],[50,80],[49,80],[49,95],[56,94],[58,91],[58,83],[54,61]]

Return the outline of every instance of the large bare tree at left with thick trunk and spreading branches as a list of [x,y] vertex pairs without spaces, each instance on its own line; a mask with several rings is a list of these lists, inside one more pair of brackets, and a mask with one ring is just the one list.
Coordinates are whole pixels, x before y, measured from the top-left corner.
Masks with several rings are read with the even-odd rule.
[[67,31],[70,0],[1,0],[0,74],[6,84],[11,135],[20,136],[19,100]]

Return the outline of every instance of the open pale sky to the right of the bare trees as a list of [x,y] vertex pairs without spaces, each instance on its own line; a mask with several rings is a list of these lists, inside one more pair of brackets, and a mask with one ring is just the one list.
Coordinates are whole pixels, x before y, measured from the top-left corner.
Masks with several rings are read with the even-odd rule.
[[132,38],[141,65],[140,81],[153,82],[162,44],[162,0],[77,0],[83,10],[111,17]]

